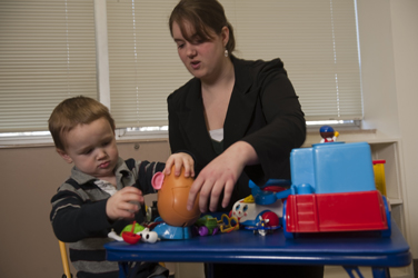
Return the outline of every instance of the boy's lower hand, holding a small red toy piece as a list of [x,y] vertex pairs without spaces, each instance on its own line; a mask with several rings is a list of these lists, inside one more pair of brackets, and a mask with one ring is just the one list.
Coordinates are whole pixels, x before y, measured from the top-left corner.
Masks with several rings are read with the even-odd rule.
[[141,190],[135,187],[126,187],[116,192],[106,203],[106,214],[110,220],[119,218],[133,219],[139,207],[136,203],[143,203]]

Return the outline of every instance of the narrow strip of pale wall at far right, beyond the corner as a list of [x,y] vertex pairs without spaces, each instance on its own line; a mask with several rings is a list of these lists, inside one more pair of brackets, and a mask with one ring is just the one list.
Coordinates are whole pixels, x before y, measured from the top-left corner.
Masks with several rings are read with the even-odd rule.
[[[399,129],[404,146],[404,169],[410,244],[414,258],[418,258],[418,1],[391,0],[391,28]],[[417,271],[417,270],[416,270]]]

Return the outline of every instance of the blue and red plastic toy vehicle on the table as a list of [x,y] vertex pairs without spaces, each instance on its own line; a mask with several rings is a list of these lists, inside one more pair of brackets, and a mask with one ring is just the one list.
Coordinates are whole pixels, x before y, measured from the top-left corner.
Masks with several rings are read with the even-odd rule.
[[287,238],[303,232],[378,231],[390,237],[390,207],[376,190],[367,142],[319,143],[293,149],[292,186],[283,205]]

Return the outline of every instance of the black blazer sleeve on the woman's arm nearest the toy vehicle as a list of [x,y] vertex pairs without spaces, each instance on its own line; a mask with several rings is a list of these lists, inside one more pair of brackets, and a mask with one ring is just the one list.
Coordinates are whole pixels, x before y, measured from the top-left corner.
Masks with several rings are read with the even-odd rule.
[[305,115],[282,68],[269,70],[260,100],[267,125],[241,140],[255,148],[265,176],[275,177],[289,162],[290,151],[306,139]]

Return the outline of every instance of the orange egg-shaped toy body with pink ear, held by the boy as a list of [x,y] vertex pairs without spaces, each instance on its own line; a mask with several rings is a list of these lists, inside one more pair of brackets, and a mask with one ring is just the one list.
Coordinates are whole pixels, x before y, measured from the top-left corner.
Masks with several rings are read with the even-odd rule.
[[171,172],[168,176],[162,172],[157,172],[153,176],[152,185],[159,189],[157,195],[158,214],[168,225],[189,227],[199,219],[199,195],[195,200],[193,208],[187,209],[187,199],[193,180],[193,178],[185,177],[185,168],[181,168],[180,176],[176,177],[175,166],[171,167]]

